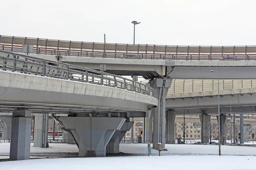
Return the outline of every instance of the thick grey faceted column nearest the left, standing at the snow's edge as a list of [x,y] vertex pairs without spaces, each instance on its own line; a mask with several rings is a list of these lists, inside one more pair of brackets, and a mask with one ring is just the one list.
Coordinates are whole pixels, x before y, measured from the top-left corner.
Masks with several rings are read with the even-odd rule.
[[12,112],[12,116],[10,161],[29,159],[31,111],[18,109]]

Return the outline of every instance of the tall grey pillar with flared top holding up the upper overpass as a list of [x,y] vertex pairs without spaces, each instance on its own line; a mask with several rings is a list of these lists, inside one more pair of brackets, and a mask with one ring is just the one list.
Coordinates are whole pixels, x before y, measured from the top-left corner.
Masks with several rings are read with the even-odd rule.
[[165,130],[166,130],[166,96],[168,89],[171,87],[172,79],[163,77],[156,78],[149,82],[150,86],[157,91],[158,107],[152,109],[154,113],[153,120],[153,148],[157,149],[157,143],[162,143],[163,149],[165,148]]

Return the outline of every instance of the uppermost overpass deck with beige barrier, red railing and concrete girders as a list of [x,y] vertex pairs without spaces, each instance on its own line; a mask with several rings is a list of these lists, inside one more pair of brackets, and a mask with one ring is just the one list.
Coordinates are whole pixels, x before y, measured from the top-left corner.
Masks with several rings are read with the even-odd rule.
[[96,70],[106,65],[105,72],[145,79],[167,74],[173,79],[211,79],[217,75],[208,70],[217,68],[223,79],[250,79],[256,65],[256,46],[124,45],[0,36],[2,49],[22,52],[23,44],[34,45],[35,56],[61,56],[61,62]]

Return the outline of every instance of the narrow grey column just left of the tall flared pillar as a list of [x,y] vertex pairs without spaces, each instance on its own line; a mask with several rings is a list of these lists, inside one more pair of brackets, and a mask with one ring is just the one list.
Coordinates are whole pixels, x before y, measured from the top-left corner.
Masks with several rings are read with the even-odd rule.
[[153,143],[153,115],[152,111],[148,111],[148,117],[145,118],[145,141]]

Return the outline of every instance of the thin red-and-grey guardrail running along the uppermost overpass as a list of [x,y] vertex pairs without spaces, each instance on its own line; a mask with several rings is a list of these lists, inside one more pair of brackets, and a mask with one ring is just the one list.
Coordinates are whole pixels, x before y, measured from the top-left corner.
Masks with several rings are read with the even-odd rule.
[[[22,53],[22,45],[0,44],[1,50]],[[99,57],[115,59],[172,59],[172,60],[256,60],[256,54],[171,54],[171,53],[129,53],[86,51],[64,48],[34,47],[34,54],[73,56],[73,57]]]

